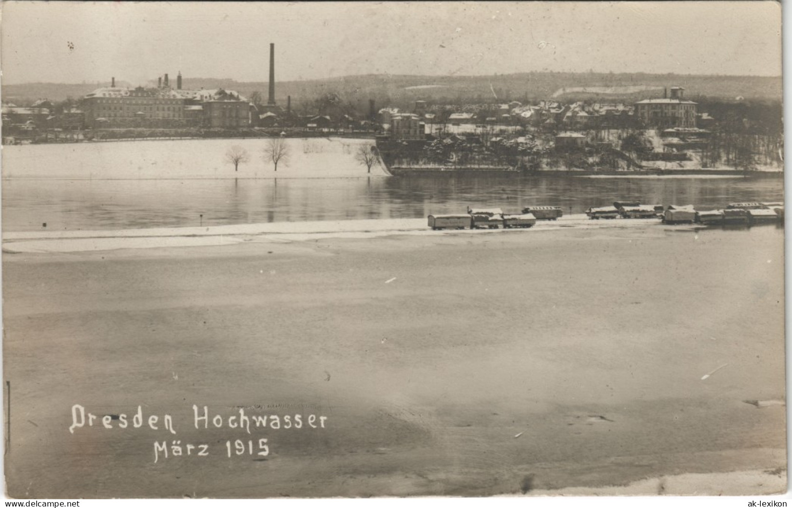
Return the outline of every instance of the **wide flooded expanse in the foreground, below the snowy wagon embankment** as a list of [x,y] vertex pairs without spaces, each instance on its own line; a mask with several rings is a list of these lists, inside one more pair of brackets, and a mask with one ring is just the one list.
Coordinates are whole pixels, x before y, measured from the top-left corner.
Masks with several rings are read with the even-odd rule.
[[[654,226],[6,253],[8,493],[552,494],[784,475],[782,237]],[[72,434],[74,404],[99,419]],[[223,426],[196,429],[193,404]],[[139,406],[158,430],[102,426]],[[280,428],[231,428],[240,409]],[[176,440],[209,455],[155,456]]]

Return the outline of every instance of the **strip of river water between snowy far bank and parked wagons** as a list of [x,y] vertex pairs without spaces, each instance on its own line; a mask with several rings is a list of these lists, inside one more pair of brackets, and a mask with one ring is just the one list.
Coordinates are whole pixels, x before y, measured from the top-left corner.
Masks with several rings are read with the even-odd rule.
[[[555,205],[565,213],[642,203],[723,207],[782,201],[780,177],[584,178],[394,176],[371,178],[25,180],[2,182],[6,231],[219,226],[260,222],[421,218],[466,207]],[[46,223],[47,226],[44,226]]]

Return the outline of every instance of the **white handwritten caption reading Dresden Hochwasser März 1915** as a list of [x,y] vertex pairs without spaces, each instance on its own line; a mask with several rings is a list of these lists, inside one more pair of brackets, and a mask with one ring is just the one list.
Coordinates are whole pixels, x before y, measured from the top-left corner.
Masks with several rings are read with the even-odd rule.
[[[196,430],[227,428],[253,434],[256,431],[267,430],[327,428],[327,417],[323,415],[247,415],[245,408],[239,408],[238,414],[235,413],[230,416],[211,415],[207,406],[199,408],[194,404],[192,412],[194,415],[192,424]],[[80,404],[74,404],[71,407],[69,432],[74,434],[74,430],[93,426],[105,429],[148,428],[150,430],[163,430],[177,435],[172,415],[162,415],[162,418],[158,415],[148,415],[147,418],[144,418],[142,406],[138,406],[138,410],[131,418],[125,413],[120,415],[94,415],[86,411],[86,408]],[[228,458],[238,456],[266,457],[269,455],[269,444],[268,438],[261,437],[227,440],[220,453]],[[208,457],[211,454],[213,453],[211,453],[209,443],[182,444],[179,439],[171,439],[170,442],[168,439],[162,440],[162,442],[154,441],[155,464],[161,459],[164,460],[171,457]]]

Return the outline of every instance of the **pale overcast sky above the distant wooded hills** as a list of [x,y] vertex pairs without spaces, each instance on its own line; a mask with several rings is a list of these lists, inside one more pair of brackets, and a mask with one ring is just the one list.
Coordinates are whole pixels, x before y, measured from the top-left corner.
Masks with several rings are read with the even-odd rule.
[[776,2],[4,2],[2,79],[781,75]]

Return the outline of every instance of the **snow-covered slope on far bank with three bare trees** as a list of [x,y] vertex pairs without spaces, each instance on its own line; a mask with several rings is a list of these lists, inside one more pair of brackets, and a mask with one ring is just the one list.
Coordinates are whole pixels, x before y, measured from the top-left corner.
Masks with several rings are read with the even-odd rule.
[[[356,160],[360,146],[374,140],[355,138],[287,138],[288,156],[278,170],[265,159],[268,138],[185,139],[128,142],[12,145],[2,148],[4,179],[234,179],[348,178],[386,176],[375,164],[371,173]],[[226,160],[230,146],[240,146],[249,161]]]

